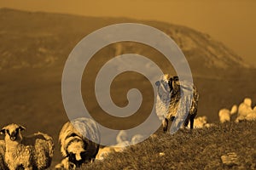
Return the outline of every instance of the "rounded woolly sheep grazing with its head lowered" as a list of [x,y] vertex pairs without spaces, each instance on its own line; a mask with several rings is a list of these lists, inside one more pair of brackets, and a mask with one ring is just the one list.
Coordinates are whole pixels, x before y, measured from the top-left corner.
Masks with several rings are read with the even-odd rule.
[[100,146],[100,132],[96,122],[80,117],[63,125],[59,141],[62,156],[68,158],[69,164],[80,167],[95,160]]

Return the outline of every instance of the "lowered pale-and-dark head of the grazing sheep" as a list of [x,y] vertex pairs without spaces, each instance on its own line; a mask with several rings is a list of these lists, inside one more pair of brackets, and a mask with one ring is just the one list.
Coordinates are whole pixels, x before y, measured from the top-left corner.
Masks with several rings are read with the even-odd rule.
[[86,160],[86,150],[84,150],[84,142],[82,140],[74,140],[67,146],[68,161],[73,162],[79,167]]

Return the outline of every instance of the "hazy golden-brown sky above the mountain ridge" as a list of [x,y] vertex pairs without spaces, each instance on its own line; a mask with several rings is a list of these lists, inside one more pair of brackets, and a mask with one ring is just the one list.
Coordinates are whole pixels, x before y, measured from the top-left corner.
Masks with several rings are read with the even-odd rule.
[[0,8],[129,17],[189,26],[256,65],[255,0],[0,0]]

